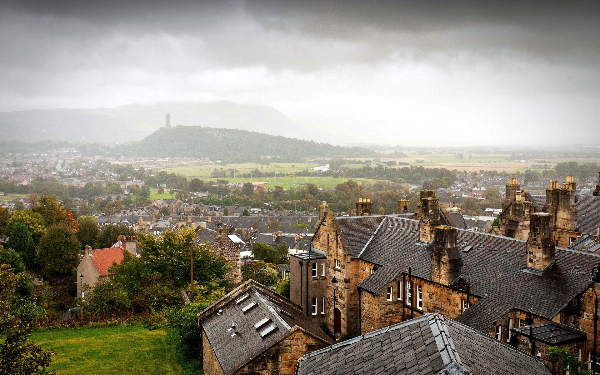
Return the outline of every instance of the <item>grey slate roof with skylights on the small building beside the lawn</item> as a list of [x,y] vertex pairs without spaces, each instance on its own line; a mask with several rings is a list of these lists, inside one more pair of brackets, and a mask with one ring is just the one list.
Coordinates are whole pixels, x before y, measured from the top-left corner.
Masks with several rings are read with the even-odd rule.
[[[236,303],[244,295],[248,296],[239,304]],[[242,308],[253,302],[256,306],[243,313]],[[218,310],[223,311],[217,315]],[[264,318],[269,321],[254,328]],[[198,314],[198,319],[226,375],[243,367],[298,329],[325,344],[334,342],[302,313],[299,305],[253,280],[246,281],[207,307]],[[239,331],[233,337],[235,330],[228,330],[232,322]],[[275,330],[261,337],[260,332],[271,325],[276,327]]]

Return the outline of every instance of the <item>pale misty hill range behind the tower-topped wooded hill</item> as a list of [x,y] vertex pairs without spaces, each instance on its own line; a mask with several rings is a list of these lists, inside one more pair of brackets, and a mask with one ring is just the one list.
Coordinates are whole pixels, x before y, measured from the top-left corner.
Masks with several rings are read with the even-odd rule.
[[141,140],[164,126],[170,113],[172,125],[238,128],[271,134],[299,136],[298,127],[283,113],[266,106],[214,103],[164,102],[130,104],[97,109],[41,109],[0,113],[2,140],[124,143]]

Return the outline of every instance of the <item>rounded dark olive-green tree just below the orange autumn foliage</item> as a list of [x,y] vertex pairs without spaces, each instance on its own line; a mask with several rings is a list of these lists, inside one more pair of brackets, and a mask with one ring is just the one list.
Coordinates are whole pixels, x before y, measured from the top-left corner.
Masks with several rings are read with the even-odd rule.
[[67,274],[79,262],[81,243],[75,232],[65,223],[48,227],[40,239],[38,264],[44,275]]

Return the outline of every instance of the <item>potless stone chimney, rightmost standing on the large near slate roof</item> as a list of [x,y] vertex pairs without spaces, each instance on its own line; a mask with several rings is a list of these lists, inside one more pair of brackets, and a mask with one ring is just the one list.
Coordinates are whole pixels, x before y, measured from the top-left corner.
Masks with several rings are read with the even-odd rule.
[[554,263],[554,239],[552,238],[552,215],[536,212],[530,215],[529,238],[527,238],[527,267],[543,271]]

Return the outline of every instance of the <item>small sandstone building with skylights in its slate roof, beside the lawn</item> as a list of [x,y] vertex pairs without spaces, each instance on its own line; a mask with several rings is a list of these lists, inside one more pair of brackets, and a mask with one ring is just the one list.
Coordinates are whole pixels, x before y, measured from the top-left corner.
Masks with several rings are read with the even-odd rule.
[[334,343],[301,308],[253,280],[198,314],[206,374],[290,375],[301,356]]

